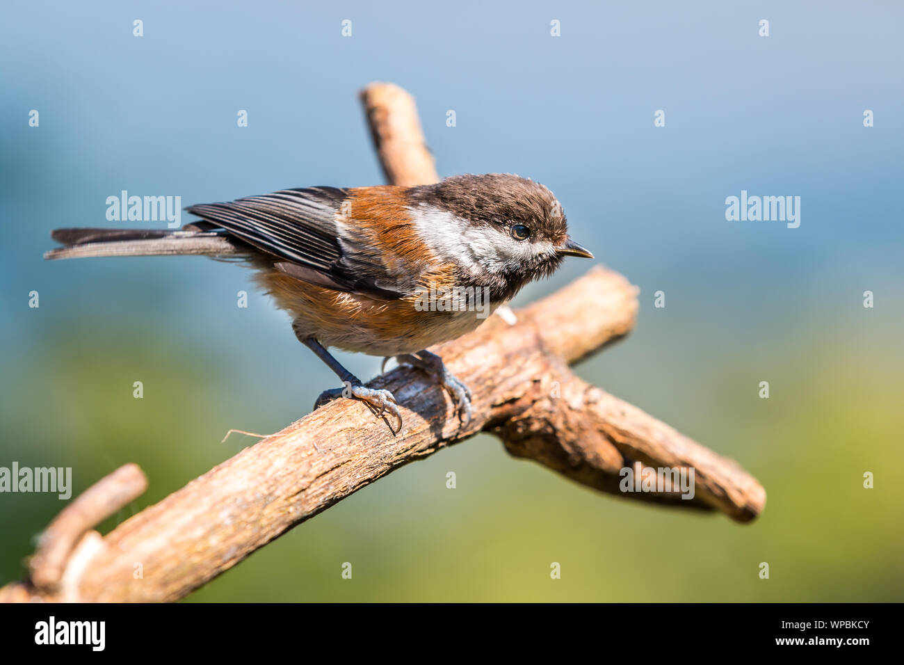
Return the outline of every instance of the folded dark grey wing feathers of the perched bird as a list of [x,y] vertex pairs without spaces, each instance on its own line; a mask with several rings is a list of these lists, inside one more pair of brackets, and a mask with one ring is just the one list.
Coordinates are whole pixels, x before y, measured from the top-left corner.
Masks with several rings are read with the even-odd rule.
[[404,295],[400,290],[378,287],[373,280],[362,280],[360,274],[344,269],[335,217],[348,194],[347,189],[336,187],[283,189],[186,210],[282,260],[275,261],[276,269],[298,280],[375,298],[400,298]]

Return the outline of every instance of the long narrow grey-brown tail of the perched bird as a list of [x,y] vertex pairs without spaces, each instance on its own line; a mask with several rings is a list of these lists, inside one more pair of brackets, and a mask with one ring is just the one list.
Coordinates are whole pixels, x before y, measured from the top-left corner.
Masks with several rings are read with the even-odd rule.
[[57,229],[52,238],[66,245],[44,258],[79,259],[91,256],[240,256],[248,253],[222,231],[182,229]]

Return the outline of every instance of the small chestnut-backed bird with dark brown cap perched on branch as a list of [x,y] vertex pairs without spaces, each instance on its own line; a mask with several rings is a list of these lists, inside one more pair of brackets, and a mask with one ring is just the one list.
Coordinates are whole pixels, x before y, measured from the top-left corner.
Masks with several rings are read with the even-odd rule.
[[509,174],[413,187],[284,189],[186,210],[201,219],[181,229],[57,229],[52,238],[65,246],[44,258],[241,259],[292,315],[298,339],[343,382],[315,408],[339,396],[358,399],[378,417],[391,413],[399,430],[393,394],[363,385],[328,347],[396,357],[426,371],[466,426],[471,394],[427,348],[473,330],[564,257],[593,258],[570,239],[550,190]]

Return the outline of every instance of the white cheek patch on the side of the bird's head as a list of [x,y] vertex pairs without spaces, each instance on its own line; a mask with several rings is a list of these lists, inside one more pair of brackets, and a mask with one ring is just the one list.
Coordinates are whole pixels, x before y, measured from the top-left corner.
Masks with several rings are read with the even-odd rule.
[[551,242],[517,242],[508,231],[472,226],[447,210],[420,204],[409,208],[420,237],[441,261],[450,261],[479,275],[499,272],[513,262],[554,254]]

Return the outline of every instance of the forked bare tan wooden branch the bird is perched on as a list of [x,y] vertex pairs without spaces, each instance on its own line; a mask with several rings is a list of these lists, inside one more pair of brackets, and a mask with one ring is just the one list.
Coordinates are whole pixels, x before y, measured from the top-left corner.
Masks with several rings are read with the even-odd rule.
[[[372,125],[394,127],[393,105],[409,112],[410,98],[393,89],[371,86],[363,93]],[[405,126],[409,132],[414,127],[410,122]],[[384,166],[403,164],[406,150],[422,146],[395,129],[387,133],[375,127],[373,134]],[[384,140],[389,135],[395,138]],[[412,165],[386,166],[386,172],[421,182],[435,177],[432,161],[428,165],[416,157]],[[513,455],[594,489],[626,499],[714,508],[739,521],[755,518],[765,505],[765,491],[736,463],[570,371],[570,362],[634,326],[636,293],[624,277],[597,267],[526,309],[497,311],[474,332],[436,347],[474,395],[474,418],[466,429],[459,429],[453,406],[438,385],[417,370],[400,367],[370,384],[391,390],[399,400],[404,427],[398,435],[361,403],[327,404],[142,510],[106,537],[89,532],[62,575],[59,555],[42,555],[39,548],[40,556],[56,563],[33,565],[31,579],[0,589],[0,600],[178,600],[391,470],[480,431],[497,434]],[[664,467],[694,470],[693,499],[684,498],[671,483],[660,491],[625,493],[619,488],[626,469],[644,474]],[[68,532],[83,533],[84,527],[82,521]],[[73,538],[60,551],[69,549]],[[34,575],[45,566],[50,573]],[[138,568],[140,578],[134,575]]]

